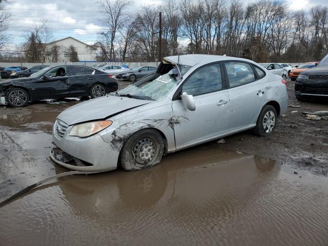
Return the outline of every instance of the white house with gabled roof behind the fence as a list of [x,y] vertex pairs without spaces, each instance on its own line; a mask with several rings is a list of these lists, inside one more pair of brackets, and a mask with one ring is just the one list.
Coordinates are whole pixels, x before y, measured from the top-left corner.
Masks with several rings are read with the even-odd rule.
[[91,46],[81,42],[80,40],[74,38],[74,37],[65,37],[61,38],[59,40],[53,41],[46,45],[47,52],[50,52],[51,48],[53,46],[59,47],[58,52],[58,62],[66,62],[69,61],[69,53],[67,49],[73,45],[75,47],[75,50],[77,51],[77,56],[79,61],[89,61],[89,60],[95,60],[95,53],[91,50]]

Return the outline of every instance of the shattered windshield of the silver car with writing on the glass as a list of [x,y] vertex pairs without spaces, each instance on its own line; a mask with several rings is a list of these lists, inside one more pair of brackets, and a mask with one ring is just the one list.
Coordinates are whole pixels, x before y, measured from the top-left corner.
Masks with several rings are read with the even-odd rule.
[[[191,67],[179,65],[181,74],[185,74]],[[119,96],[129,96],[145,100],[161,100],[166,97],[181,80],[177,66],[167,74],[163,74],[152,81],[135,86],[136,83],[117,92]]]

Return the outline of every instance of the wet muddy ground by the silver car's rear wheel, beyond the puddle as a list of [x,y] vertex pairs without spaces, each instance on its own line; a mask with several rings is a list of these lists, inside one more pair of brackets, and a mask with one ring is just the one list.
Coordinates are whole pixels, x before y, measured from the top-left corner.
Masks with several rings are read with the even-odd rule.
[[300,107],[288,108],[286,117],[278,119],[272,136],[256,137],[253,131],[246,131],[225,138],[226,143],[220,149],[268,157],[295,169],[327,175],[328,116],[326,120],[310,120],[302,112],[328,110],[328,101],[298,101],[294,85],[288,80],[289,104]]

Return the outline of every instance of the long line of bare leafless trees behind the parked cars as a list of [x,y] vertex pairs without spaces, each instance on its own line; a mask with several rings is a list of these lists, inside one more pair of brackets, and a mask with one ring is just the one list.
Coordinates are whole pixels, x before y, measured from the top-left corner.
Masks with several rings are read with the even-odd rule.
[[[4,1],[8,2],[0,0],[0,10]],[[158,61],[163,56],[200,53],[302,63],[328,53],[328,8],[323,6],[291,11],[284,0],[256,0],[248,5],[239,0],[167,0],[131,12],[131,0],[96,3],[106,30],[90,46],[98,61]],[[1,16],[0,12],[0,25]],[[45,48],[52,39],[45,24],[35,26],[17,48],[21,61],[57,62],[64,52],[56,46]],[[0,37],[1,30],[0,26]],[[69,52],[70,58],[77,58],[74,47]]]

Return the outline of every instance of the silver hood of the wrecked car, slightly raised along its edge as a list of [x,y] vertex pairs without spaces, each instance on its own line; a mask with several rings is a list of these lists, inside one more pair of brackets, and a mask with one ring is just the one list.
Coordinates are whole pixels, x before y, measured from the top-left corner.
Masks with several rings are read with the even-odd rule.
[[139,100],[113,95],[102,96],[74,105],[61,112],[57,118],[70,126],[91,120],[106,119],[151,102],[151,100]]

